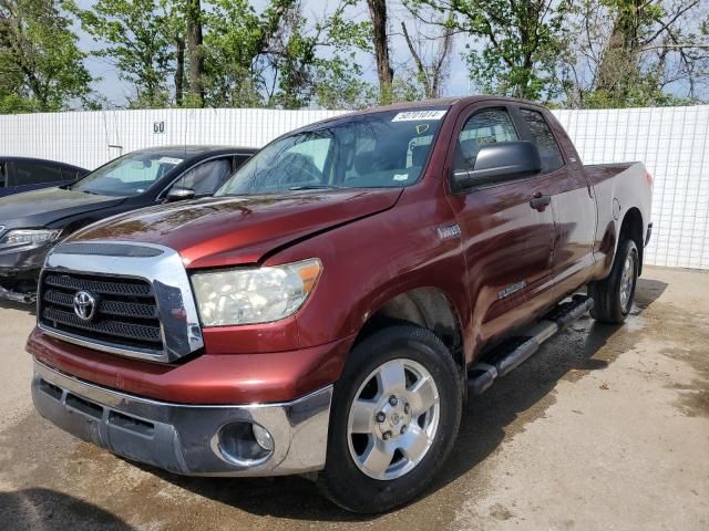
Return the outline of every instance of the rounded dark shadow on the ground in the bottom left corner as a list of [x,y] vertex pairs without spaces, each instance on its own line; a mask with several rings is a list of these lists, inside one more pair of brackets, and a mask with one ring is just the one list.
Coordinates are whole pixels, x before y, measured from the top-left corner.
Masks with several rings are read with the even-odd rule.
[[0,492],[0,521],[8,531],[115,530],[134,528],[110,512],[72,496],[50,489],[24,489]]

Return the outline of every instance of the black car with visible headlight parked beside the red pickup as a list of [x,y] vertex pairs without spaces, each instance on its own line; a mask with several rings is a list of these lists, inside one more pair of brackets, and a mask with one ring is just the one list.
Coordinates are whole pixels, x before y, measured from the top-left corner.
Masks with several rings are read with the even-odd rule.
[[32,302],[49,249],[89,223],[151,205],[210,196],[248,147],[140,149],[74,184],[0,198],[0,299]]

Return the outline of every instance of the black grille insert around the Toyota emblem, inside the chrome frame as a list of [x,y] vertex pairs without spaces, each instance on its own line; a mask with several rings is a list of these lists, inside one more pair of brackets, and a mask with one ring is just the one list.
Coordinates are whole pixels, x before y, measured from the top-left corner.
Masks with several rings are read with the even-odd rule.
[[[91,320],[74,312],[74,296],[82,291],[96,300]],[[48,271],[40,298],[40,322],[45,329],[119,347],[163,350],[155,295],[145,280]]]

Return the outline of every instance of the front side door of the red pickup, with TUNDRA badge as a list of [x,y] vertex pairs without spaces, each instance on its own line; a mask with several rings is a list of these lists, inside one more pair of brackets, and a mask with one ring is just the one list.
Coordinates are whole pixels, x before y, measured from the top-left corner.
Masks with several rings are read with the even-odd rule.
[[[522,138],[504,104],[474,105],[459,118],[455,131],[451,171],[473,169],[483,145]],[[554,218],[549,206],[531,204],[544,186],[544,179],[533,176],[451,195],[463,241],[474,333],[482,343],[524,324],[553,303]]]

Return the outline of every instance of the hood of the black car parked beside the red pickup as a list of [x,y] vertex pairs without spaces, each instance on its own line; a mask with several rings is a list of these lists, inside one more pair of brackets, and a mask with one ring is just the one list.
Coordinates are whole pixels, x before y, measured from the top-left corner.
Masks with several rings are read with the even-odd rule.
[[45,227],[69,216],[123,202],[123,197],[95,196],[64,188],[43,188],[0,198],[0,225],[8,229]]

